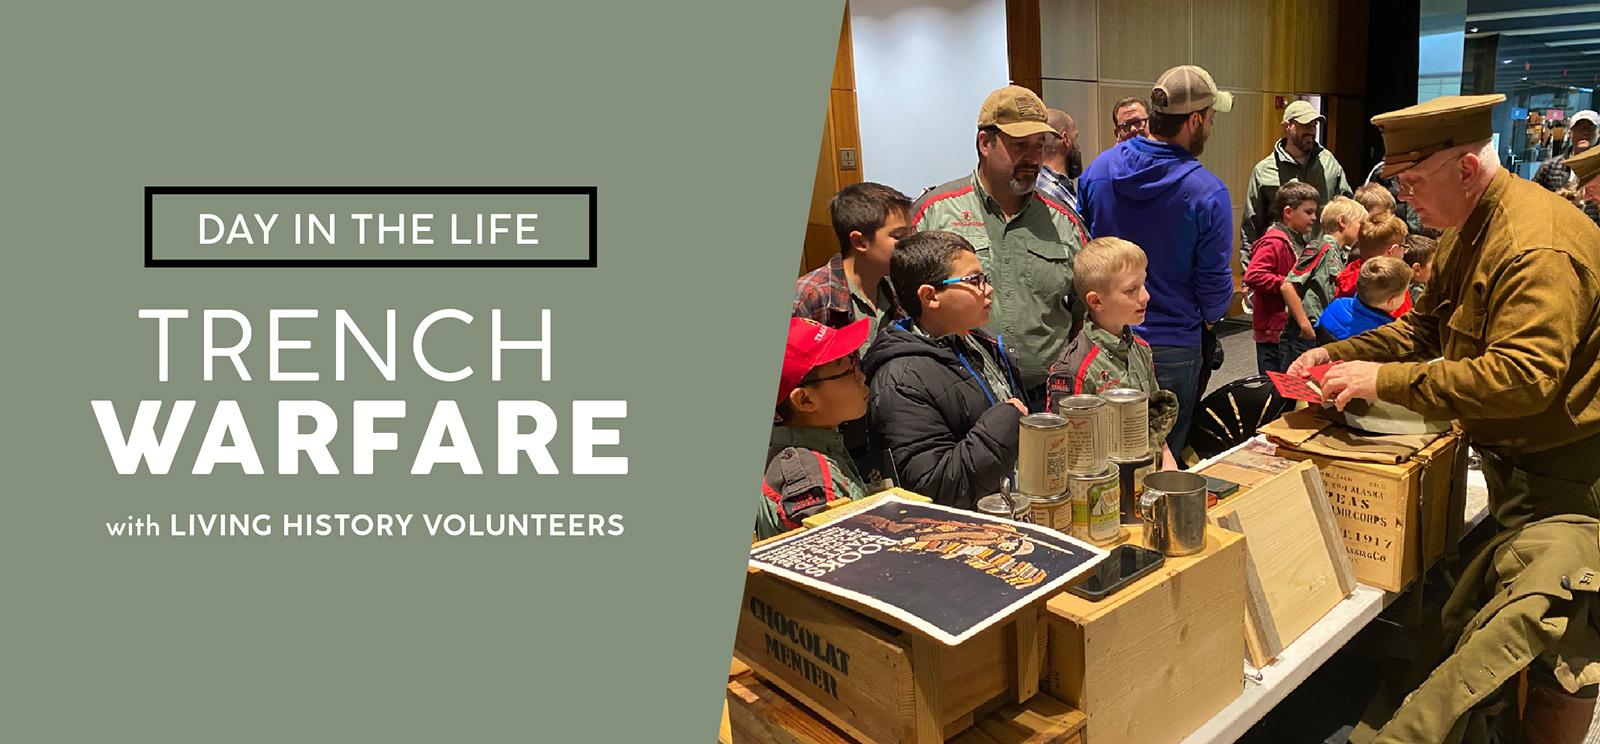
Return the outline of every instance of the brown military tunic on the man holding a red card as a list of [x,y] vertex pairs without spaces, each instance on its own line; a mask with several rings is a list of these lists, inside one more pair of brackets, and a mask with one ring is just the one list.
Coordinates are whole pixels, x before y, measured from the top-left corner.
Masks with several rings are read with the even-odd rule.
[[1459,419],[1506,454],[1600,434],[1600,229],[1501,170],[1466,224],[1440,237],[1416,309],[1326,349],[1402,360],[1378,371],[1379,398]]

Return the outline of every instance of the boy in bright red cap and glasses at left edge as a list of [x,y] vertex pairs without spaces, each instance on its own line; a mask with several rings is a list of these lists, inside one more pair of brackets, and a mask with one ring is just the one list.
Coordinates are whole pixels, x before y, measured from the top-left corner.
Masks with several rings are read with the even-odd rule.
[[834,499],[858,499],[864,482],[845,450],[838,424],[867,413],[867,381],[856,352],[872,318],[829,328],[811,318],[789,318],[778,410],[766,443],[766,475],[755,515],[755,536],[771,538]]

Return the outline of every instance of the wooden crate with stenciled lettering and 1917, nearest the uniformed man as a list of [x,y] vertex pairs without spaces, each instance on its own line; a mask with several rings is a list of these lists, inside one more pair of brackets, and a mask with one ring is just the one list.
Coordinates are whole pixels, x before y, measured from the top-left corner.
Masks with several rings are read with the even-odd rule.
[[1355,581],[1398,592],[1443,555],[1451,522],[1462,518],[1451,514],[1451,493],[1466,478],[1456,472],[1459,446],[1459,437],[1445,434],[1400,464],[1328,458],[1283,442],[1278,454],[1322,470]]

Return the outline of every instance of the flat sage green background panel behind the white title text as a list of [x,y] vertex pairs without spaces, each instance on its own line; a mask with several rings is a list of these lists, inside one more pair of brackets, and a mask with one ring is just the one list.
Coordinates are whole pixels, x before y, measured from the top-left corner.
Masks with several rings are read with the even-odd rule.
[[[816,170],[838,2],[29,3],[5,62],[3,741],[710,741]],[[146,186],[595,186],[598,269],[146,269]],[[330,206],[331,208],[331,206]],[[157,323],[170,382],[157,379]],[[251,328],[203,379],[203,312]],[[288,371],[269,381],[272,309]],[[397,373],[349,349],[395,310]],[[429,378],[411,336],[459,382]],[[536,338],[550,379],[490,317]],[[229,315],[230,317],[230,315]],[[240,339],[221,320],[216,344]],[[118,475],[91,400],[194,400],[171,474]],[[266,474],[192,474],[237,400]],[[277,474],[282,400],[338,416],[338,475]],[[357,400],[403,400],[350,472]],[[486,475],[411,475],[440,400]],[[560,474],[494,474],[501,400]],[[573,475],[574,400],[627,475]],[[616,538],[110,538],[171,514],[621,514]]]

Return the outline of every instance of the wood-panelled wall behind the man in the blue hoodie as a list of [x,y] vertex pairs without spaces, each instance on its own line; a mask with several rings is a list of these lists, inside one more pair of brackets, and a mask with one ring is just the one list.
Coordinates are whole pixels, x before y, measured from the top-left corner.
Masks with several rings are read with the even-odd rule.
[[[1019,19],[1008,29],[1011,78],[1077,118],[1085,163],[1115,144],[1112,104],[1149,98],[1155,77],[1171,66],[1198,64],[1232,91],[1235,109],[1216,117],[1200,160],[1229,187],[1235,235],[1250,171],[1282,136],[1275,96],[1322,94],[1328,147],[1352,179],[1362,176],[1366,3],[1006,0],[1006,13]],[[1029,37],[1019,40],[1018,32]],[[1018,54],[1029,43],[1037,43],[1037,67]]]

